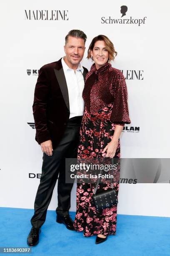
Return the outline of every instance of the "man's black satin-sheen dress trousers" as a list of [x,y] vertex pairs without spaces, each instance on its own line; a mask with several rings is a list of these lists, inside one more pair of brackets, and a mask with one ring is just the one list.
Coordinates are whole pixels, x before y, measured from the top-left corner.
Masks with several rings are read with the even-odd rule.
[[31,224],[35,228],[40,228],[45,222],[47,208],[57,179],[58,207],[56,212],[60,215],[68,214],[73,183],[65,183],[65,158],[77,158],[81,120],[82,117],[70,118],[60,143],[52,151],[52,156],[43,153],[42,174],[34,204],[35,212],[31,218]]

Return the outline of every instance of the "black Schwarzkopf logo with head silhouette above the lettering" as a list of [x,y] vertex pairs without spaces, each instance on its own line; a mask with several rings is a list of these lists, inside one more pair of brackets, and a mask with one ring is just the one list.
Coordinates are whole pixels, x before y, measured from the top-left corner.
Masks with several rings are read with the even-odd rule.
[[143,19],[139,19],[139,18],[133,18],[130,16],[130,18],[127,19],[122,19],[123,16],[126,15],[126,12],[128,11],[128,7],[126,5],[122,5],[120,7],[120,13],[122,14],[120,19],[117,18],[112,18],[112,17],[102,17],[101,18],[101,23],[104,24],[136,24],[138,26],[140,26],[141,24],[145,24],[146,18],[144,17]]

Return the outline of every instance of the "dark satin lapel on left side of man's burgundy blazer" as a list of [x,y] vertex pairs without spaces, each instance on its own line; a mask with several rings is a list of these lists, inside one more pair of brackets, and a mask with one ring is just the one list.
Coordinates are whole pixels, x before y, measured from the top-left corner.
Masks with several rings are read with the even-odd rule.
[[70,111],[68,88],[67,88],[67,82],[66,82],[66,79],[65,79],[63,68],[61,67],[59,70],[54,69],[54,72],[55,72],[55,76],[57,78],[58,84],[60,86],[62,96],[65,100],[65,104],[67,106],[67,109]]

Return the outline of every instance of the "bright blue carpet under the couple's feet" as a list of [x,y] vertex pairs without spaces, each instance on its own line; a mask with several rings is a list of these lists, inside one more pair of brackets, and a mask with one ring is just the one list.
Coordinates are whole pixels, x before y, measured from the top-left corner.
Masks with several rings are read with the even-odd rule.
[[[70,212],[72,218],[75,212]],[[0,208],[0,247],[28,247],[33,210]],[[35,256],[170,256],[170,218],[117,215],[117,233],[102,244],[82,232],[70,231],[55,222],[55,211],[47,211]],[[2,253],[0,255],[7,255]],[[13,254],[14,255],[14,254]]]

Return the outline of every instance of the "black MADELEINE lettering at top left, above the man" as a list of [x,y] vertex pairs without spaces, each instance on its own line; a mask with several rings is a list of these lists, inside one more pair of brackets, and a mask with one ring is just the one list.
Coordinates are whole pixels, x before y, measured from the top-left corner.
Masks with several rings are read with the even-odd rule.
[[25,10],[25,20],[68,20],[68,10]]

